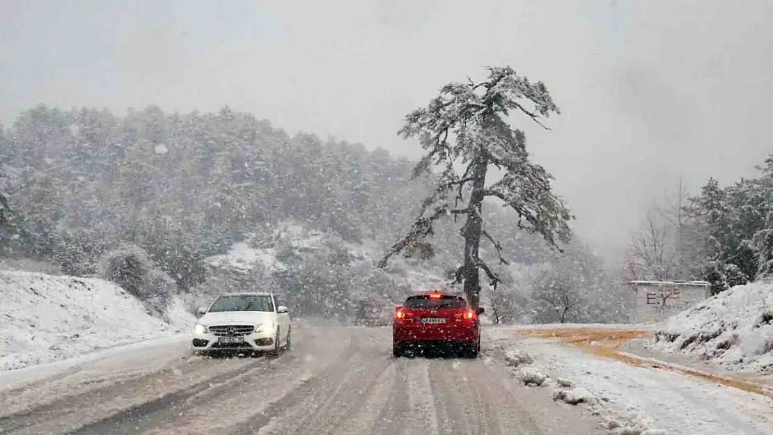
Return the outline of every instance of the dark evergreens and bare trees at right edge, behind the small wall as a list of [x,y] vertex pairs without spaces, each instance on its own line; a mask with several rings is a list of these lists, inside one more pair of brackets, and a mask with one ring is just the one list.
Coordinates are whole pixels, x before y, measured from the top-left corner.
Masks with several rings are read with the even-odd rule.
[[756,169],[726,187],[710,178],[695,195],[680,184],[652,206],[628,245],[628,277],[707,280],[717,294],[773,275],[773,155]]

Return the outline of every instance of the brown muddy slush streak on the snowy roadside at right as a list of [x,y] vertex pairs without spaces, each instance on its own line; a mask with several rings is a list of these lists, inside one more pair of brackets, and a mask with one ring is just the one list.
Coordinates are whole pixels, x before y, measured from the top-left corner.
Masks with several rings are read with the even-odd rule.
[[620,352],[620,347],[628,340],[635,338],[650,338],[652,331],[638,329],[613,329],[613,328],[550,328],[550,329],[522,329],[518,335],[533,338],[549,338],[558,342],[574,345],[584,352],[597,355],[602,358],[616,359],[628,365],[649,367],[652,369],[666,369],[680,372],[685,375],[717,382],[723,386],[742,389],[748,393],[756,393],[773,399],[773,390],[766,386],[755,384],[743,379],[728,376],[717,376],[696,369],[690,369],[683,365],[670,364],[655,359],[641,358],[630,353]]

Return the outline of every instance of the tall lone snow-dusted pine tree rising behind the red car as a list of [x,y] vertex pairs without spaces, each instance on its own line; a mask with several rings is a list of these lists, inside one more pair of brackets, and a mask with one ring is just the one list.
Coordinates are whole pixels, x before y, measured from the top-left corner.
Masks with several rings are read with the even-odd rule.
[[[505,121],[511,111],[526,114],[537,124],[540,117],[560,114],[547,87],[542,82],[531,83],[509,66],[486,69],[486,80],[448,83],[427,107],[407,114],[399,134],[419,138],[421,147],[427,150],[414,168],[414,177],[431,173],[435,167],[441,172],[434,192],[424,200],[407,235],[379,262],[380,267],[386,267],[394,254],[425,243],[423,240],[434,232],[434,222],[441,217],[466,216],[461,229],[464,263],[455,271],[454,284],[464,282],[465,294],[475,308],[481,290],[479,271],[484,270],[492,285],[499,282],[497,274],[479,256],[483,236],[494,245],[500,263],[506,263],[500,243],[484,227],[482,206],[486,198],[499,199],[514,209],[520,228],[540,233],[554,246],[556,240],[569,240],[567,223],[574,219],[551,191],[551,175],[529,160],[526,135]],[[458,165],[465,167],[461,175]],[[502,178],[486,185],[492,166],[503,172]],[[466,205],[458,207],[460,201]]]

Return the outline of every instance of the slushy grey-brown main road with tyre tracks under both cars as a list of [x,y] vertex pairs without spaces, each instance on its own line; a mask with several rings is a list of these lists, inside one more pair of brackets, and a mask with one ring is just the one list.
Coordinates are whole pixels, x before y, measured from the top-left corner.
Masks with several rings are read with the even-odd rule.
[[293,335],[275,358],[203,359],[180,340],[0,378],[0,434],[607,433],[550,389],[519,385],[485,344],[475,360],[394,359],[389,328]]

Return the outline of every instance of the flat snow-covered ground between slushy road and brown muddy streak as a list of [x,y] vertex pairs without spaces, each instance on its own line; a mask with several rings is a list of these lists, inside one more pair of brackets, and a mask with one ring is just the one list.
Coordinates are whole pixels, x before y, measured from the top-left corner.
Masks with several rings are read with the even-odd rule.
[[[566,338],[562,331],[567,326],[560,325],[557,336]],[[587,325],[568,326],[573,327]],[[549,328],[550,325],[531,329],[542,333]],[[615,334],[624,328],[617,325],[607,330]],[[601,417],[611,433],[773,433],[773,400],[766,396],[720,386],[717,382],[666,369],[666,365],[656,369],[658,365],[642,366],[626,362],[625,358],[604,358],[588,352],[587,348],[583,350],[551,338],[525,337],[524,329],[489,329],[489,340],[504,351],[512,375],[524,383],[553,389],[556,400],[586,407],[588,412]]]

